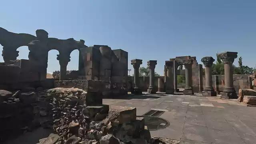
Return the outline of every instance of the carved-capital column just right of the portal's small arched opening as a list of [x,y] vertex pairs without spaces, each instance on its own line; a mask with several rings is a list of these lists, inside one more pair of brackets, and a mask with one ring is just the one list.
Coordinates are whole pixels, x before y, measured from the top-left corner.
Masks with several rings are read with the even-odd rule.
[[184,60],[182,63],[185,66],[185,74],[186,74],[186,87],[183,90],[184,95],[192,95],[194,94],[193,86],[192,86],[192,64],[193,61],[191,59]]

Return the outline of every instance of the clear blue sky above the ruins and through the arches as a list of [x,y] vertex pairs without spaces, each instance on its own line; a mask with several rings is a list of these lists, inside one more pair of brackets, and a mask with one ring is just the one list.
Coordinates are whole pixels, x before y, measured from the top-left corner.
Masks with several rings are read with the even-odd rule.
[[[0,27],[121,48],[130,69],[131,59],[142,59],[142,66],[157,60],[161,75],[164,61],[175,56],[196,56],[201,64],[204,56],[234,51],[244,65],[256,64],[256,0],[1,0]],[[28,59],[27,47],[18,50],[18,59]],[[60,68],[56,54],[49,52],[48,72]],[[78,70],[77,50],[68,70]]]

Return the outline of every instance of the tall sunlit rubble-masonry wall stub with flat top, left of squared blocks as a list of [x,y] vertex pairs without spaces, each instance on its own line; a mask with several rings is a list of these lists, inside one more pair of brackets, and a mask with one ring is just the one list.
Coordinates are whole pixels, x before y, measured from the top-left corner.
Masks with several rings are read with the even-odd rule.
[[[53,88],[47,91],[51,99],[54,131],[63,140],[86,128],[83,114],[87,92],[78,88]],[[88,119],[88,117],[87,117]]]

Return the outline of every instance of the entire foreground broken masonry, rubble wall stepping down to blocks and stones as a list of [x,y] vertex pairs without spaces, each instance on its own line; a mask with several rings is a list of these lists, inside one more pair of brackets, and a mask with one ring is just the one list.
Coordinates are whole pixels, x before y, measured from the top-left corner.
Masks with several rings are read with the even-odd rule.
[[[150,132],[136,108],[86,104],[87,92],[78,88],[47,91],[52,104],[54,144],[149,144]],[[90,96],[88,97],[90,98]]]

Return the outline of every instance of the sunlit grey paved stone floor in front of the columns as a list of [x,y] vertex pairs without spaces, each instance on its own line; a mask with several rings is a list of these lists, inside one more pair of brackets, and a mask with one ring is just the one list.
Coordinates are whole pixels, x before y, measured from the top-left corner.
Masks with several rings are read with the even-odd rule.
[[170,122],[152,136],[180,140],[180,144],[256,144],[256,107],[220,97],[145,94],[104,99],[104,104],[137,108],[143,115],[151,108],[168,110],[160,116]]

